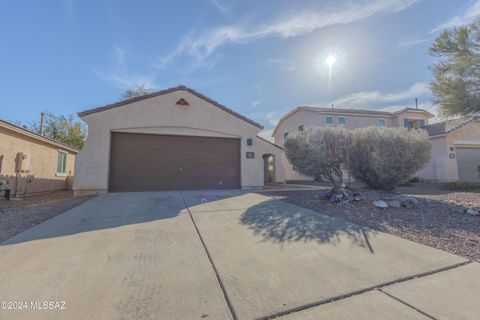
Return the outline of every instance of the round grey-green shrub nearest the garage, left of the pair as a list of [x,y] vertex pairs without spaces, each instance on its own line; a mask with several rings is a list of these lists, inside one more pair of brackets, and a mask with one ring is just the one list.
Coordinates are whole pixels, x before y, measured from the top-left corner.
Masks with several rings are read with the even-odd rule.
[[285,141],[285,153],[293,168],[315,180],[343,183],[352,132],[341,127],[310,128]]

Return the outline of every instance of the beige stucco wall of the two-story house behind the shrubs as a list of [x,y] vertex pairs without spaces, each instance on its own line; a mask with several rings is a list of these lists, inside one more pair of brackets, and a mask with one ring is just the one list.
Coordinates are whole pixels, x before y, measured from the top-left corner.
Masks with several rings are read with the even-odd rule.
[[[337,109],[338,110],[338,109]],[[304,129],[308,127],[324,127],[327,126],[326,117],[333,117],[333,126],[338,126],[338,118],[345,118],[345,128],[348,129],[357,129],[370,126],[377,126],[378,120],[385,120],[386,127],[403,127],[404,119],[423,119],[425,124],[428,123],[428,116],[423,112],[417,111],[404,111],[396,115],[391,116],[379,116],[379,115],[351,115],[348,113],[345,114],[328,114],[300,109],[297,112],[292,113],[288,118],[284,119],[276,128],[274,134],[274,141],[279,146],[283,146],[285,142],[284,134],[288,132],[289,135],[296,134],[299,132],[298,127],[300,125],[304,126]],[[285,180],[311,180],[311,178],[301,175],[300,173],[293,170],[292,165],[287,160],[285,155],[282,156],[282,164],[285,168]]]

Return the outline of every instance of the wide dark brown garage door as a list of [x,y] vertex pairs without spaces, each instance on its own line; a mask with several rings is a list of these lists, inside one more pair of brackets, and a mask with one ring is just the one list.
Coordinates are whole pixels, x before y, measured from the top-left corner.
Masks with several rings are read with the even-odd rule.
[[240,188],[240,140],[112,133],[110,191]]

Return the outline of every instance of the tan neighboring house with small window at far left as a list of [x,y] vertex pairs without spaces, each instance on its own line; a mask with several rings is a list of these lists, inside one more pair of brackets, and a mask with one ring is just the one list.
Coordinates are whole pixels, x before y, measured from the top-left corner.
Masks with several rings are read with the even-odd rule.
[[24,197],[72,187],[78,150],[0,120],[0,180]]

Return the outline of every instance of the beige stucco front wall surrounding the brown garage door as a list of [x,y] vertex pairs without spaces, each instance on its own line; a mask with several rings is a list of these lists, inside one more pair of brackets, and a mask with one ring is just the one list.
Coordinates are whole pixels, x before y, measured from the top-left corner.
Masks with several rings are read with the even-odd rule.
[[[176,105],[181,98],[187,100],[189,106]],[[240,138],[242,188],[263,186],[261,155],[271,150],[256,137],[261,129],[187,91],[174,91],[82,119],[88,124],[88,138],[76,160],[73,184],[76,194],[108,190],[112,131]],[[252,146],[247,146],[248,138],[254,140]],[[255,152],[255,158],[246,159],[247,151]]]

